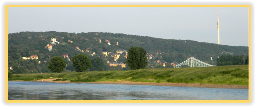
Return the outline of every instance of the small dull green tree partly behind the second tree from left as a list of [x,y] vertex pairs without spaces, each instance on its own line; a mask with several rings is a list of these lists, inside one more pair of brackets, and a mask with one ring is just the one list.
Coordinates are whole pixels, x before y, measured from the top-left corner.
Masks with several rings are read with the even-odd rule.
[[103,62],[101,57],[93,57],[91,60],[91,71],[102,71],[103,70]]

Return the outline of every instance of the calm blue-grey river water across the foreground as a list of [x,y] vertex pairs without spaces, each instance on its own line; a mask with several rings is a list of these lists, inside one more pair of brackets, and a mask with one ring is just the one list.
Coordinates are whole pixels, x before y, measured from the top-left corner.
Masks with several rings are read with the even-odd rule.
[[248,100],[248,89],[8,81],[8,100]]

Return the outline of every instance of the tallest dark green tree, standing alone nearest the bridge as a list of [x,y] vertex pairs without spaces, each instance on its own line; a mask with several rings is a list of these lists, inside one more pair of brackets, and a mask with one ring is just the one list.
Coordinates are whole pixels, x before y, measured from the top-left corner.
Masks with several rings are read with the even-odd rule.
[[128,50],[128,56],[126,59],[127,65],[130,69],[144,69],[147,65],[146,51],[142,47],[138,48],[136,46],[131,47]]

